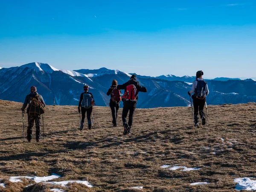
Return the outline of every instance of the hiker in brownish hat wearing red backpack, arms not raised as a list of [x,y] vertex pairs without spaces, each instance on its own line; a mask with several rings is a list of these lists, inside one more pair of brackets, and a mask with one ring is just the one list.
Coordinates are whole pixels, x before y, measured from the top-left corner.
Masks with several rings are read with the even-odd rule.
[[107,95],[111,96],[110,102],[109,102],[109,107],[111,108],[111,113],[112,113],[112,124],[113,127],[116,127],[116,119],[117,119],[117,113],[120,107],[120,101],[122,100],[121,98],[121,91],[116,88],[117,87],[117,81],[114,79],[112,81],[111,87],[108,89]]

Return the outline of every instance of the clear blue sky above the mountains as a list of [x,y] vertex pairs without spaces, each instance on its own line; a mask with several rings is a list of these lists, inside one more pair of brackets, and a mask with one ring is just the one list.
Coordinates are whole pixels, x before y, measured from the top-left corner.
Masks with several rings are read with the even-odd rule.
[[256,77],[256,0],[1,0],[0,67]]

